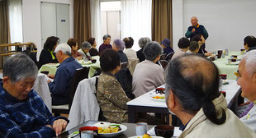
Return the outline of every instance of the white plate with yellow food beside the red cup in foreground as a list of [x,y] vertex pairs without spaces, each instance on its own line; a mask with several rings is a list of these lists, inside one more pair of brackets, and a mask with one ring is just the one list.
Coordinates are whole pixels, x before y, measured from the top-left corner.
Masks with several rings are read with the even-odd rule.
[[118,136],[127,130],[125,125],[110,122],[97,122],[93,126],[97,127],[98,136],[102,137]]

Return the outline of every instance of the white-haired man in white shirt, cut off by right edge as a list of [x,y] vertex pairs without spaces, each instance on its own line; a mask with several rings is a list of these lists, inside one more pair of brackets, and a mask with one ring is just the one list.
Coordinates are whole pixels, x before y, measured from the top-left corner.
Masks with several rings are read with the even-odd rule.
[[237,84],[241,86],[242,97],[254,103],[240,120],[256,132],[256,50],[249,51],[239,63],[239,78]]

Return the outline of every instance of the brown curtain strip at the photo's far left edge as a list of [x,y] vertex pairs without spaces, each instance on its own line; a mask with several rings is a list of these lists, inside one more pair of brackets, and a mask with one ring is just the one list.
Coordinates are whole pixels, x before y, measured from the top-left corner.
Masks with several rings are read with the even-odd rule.
[[[8,7],[7,0],[0,1],[0,44],[9,43],[9,24],[8,24]],[[7,50],[7,48],[6,48]],[[0,48],[0,52],[4,52],[4,48]],[[0,57],[0,68],[3,65],[3,57]]]

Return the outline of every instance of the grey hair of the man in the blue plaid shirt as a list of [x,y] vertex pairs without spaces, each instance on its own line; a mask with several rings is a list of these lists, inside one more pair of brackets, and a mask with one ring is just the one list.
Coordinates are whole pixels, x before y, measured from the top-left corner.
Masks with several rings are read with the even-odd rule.
[[26,78],[36,79],[37,73],[38,69],[35,62],[24,53],[17,53],[7,58],[2,69],[2,76],[8,76],[12,84]]

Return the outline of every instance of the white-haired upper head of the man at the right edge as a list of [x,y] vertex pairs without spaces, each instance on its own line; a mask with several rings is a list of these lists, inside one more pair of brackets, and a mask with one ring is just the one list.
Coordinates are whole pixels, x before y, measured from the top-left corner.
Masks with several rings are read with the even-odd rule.
[[251,50],[244,54],[242,58],[245,62],[245,70],[249,73],[249,76],[254,75],[256,72],[256,50]]

